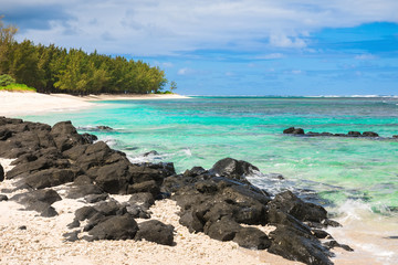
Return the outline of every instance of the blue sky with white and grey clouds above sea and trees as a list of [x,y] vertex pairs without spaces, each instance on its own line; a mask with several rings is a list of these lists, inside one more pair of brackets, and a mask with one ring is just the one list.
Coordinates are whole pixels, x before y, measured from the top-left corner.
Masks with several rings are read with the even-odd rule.
[[0,14],[18,41],[143,60],[184,95],[398,95],[397,0],[1,0]]

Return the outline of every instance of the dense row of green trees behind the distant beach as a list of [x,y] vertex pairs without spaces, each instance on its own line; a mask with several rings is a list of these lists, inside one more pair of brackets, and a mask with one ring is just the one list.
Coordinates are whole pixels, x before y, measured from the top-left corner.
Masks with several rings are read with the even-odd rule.
[[[143,61],[123,56],[86,53],[51,44],[35,45],[30,40],[17,42],[17,28],[4,26],[0,17],[0,75],[40,93],[75,95],[100,93],[159,93],[168,83],[165,72]],[[171,82],[170,88],[176,88]]]

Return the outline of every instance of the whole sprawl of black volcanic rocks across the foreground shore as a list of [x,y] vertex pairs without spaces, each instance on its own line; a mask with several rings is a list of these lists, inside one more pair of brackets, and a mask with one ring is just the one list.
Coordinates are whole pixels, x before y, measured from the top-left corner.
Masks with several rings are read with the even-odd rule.
[[[51,204],[62,200],[52,188],[67,184],[66,198],[90,203],[67,226],[73,231],[64,237],[72,242],[130,239],[172,245],[174,227],[150,220],[149,212],[155,200],[171,198],[181,209],[179,222],[191,233],[306,264],[332,264],[332,247],[350,250],[322,230],[338,224],[321,205],[290,191],[271,194],[252,186],[247,176],[259,169],[249,162],[226,158],[209,170],[193,167],[176,174],[172,163],[133,165],[125,153],[95,140],[77,134],[70,121],[51,127],[0,117],[0,157],[17,158],[6,178],[28,189],[10,200],[51,218],[57,214]],[[130,199],[119,203],[109,193]],[[137,218],[148,221],[138,224]],[[268,235],[258,225],[276,229]]]

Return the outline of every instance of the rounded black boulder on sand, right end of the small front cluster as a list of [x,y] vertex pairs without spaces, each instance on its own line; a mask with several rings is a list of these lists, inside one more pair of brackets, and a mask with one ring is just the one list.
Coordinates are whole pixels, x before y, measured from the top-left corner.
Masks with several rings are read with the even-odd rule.
[[135,236],[136,241],[146,240],[161,245],[172,245],[174,226],[166,225],[157,220],[150,220],[138,224],[138,232]]

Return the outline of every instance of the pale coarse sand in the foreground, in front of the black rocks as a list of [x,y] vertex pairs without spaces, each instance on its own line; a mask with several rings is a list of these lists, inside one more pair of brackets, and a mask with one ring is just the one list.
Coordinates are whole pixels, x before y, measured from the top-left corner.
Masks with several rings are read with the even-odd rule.
[[[11,159],[0,159],[6,171]],[[12,181],[0,182],[2,189],[12,188]],[[63,197],[63,187],[54,188]],[[19,191],[21,192],[21,191]],[[11,198],[14,193],[4,193]],[[129,195],[114,195],[119,202]],[[151,209],[151,218],[175,226],[175,246],[136,241],[64,242],[63,233],[73,221],[76,209],[86,205],[81,200],[63,197],[53,206],[55,218],[41,218],[36,212],[21,211],[12,201],[0,202],[0,264],[302,264],[286,261],[265,251],[250,251],[233,242],[211,240],[203,233],[190,234],[178,223],[179,208],[171,200],[158,201]],[[142,222],[145,220],[137,220]],[[25,225],[27,230],[20,230]],[[273,227],[263,227],[264,232]]]

